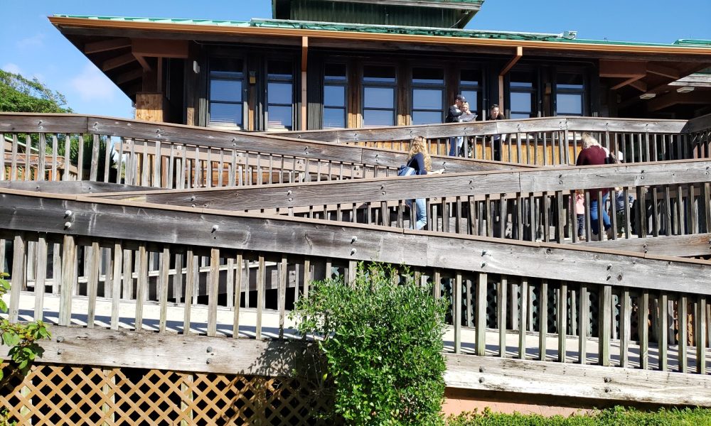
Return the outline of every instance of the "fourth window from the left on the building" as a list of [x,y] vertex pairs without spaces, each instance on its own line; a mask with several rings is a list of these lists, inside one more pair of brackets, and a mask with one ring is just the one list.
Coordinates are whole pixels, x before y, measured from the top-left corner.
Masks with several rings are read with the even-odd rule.
[[363,126],[395,125],[395,67],[363,67]]

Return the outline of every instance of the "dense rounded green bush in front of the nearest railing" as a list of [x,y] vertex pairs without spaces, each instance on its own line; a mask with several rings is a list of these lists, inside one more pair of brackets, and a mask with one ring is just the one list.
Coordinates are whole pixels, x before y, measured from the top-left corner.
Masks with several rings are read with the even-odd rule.
[[333,381],[334,410],[348,424],[444,421],[447,302],[431,293],[410,273],[360,264],[355,282],[314,283],[309,297],[297,302],[299,331],[323,337],[324,378]]

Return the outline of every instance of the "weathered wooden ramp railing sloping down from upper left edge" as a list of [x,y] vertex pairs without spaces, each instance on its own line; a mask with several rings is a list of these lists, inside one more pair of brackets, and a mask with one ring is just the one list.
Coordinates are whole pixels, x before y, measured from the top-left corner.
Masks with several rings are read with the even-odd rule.
[[[395,175],[405,153],[217,131],[176,124],[75,114],[0,114],[0,180],[92,180],[144,187],[262,185]],[[20,141],[40,155],[26,163]],[[63,153],[75,152],[65,167]],[[58,155],[58,154],[62,155]],[[450,171],[510,170],[517,165],[433,158]]]

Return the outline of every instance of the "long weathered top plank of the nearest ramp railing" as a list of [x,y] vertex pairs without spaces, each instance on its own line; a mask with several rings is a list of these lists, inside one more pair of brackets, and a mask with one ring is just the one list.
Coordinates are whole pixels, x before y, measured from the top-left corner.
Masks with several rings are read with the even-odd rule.
[[[363,226],[344,222],[266,217],[225,212],[183,212],[154,209],[147,204],[97,202],[76,196],[38,197],[0,190],[0,221],[7,229],[65,233],[64,212],[75,212],[77,235],[106,239],[134,239],[166,244],[215,248],[259,249],[272,253],[333,256],[363,261],[405,263],[485,273],[505,273],[585,283],[627,285],[648,290],[709,294],[709,264],[680,258],[631,252],[583,249],[559,244],[501,241],[459,234],[437,234],[407,229]],[[148,219],[150,218],[150,219]],[[158,228],[155,223],[160,223]],[[213,225],[220,230],[213,232]],[[344,231],[346,230],[346,231]],[[351,244],[353,236],[357,237]],[[304,244],[309,241],[309,244]],[[351,254],[351,249],[357,249]],[[486,261],[481,259],[486,251]],[[456,256],[451,256],[456,253]],[[595,253],[594,256],[591,253]],[[560,264],[574,262],[574,271]],[[609,267],[609,264],[612,264]]]

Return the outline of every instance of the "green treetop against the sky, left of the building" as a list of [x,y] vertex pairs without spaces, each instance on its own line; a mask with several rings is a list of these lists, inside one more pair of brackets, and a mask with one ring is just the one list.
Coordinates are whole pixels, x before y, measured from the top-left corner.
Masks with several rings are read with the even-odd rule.
[[0,111],[5,112],[72,112],[67,99],[36,78],[28,80],[19,74],[0,70]]

